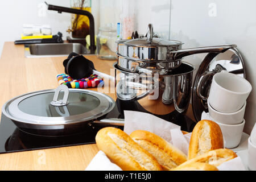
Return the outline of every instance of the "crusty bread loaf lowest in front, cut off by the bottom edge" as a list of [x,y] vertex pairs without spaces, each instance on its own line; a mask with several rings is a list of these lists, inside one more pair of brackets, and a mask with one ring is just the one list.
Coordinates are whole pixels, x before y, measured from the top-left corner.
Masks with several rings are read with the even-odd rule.
[[171,171],[218,171],[218,168],[208,163],[188,163],[178,166]]

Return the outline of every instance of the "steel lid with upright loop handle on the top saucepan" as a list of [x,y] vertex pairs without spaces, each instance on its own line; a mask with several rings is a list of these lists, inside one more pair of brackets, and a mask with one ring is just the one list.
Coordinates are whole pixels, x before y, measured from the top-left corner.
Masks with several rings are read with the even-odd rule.
[[118,44],[125,44],[130,46],[145,46],[145,47],[161,47],[161,46],[179,46],[183,44],[177,40],[161,39],[158,35],[154,34],[152,24],[148,24],[147,37],[131,40],[119,40]]

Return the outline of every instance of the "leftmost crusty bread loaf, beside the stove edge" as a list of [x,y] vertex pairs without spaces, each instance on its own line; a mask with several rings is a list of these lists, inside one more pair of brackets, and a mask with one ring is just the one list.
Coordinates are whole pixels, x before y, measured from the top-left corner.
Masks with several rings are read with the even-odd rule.
[[113,163],[124,171],[162,170],[156,159],[125,132],[115,127],[98,131],[96,144]]

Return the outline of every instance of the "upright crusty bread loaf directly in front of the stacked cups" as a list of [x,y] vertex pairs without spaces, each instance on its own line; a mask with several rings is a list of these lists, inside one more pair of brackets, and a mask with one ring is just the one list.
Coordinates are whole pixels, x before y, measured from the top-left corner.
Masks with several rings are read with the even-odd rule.
[[199,121],[192,131],[188,160],[218,148],[224,148],[220,126],[209,120]]

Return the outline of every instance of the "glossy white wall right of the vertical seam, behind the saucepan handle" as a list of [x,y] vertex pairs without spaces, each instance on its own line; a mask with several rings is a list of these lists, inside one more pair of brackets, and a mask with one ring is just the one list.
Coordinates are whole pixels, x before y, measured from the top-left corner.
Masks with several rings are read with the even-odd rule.
[[[184,42],[184,48],[237,44],[253,86],[247,99],[245,132],[256,121],[256,1],[255,0],[171,0],[171,39]],[[205,54],[185,57],[199,67]]]

